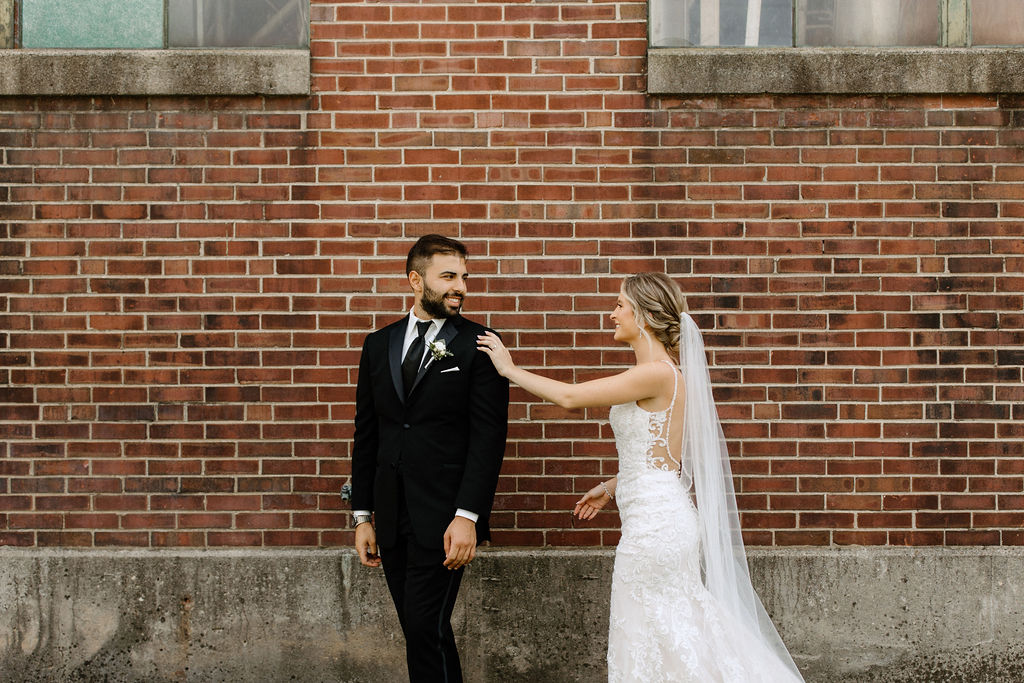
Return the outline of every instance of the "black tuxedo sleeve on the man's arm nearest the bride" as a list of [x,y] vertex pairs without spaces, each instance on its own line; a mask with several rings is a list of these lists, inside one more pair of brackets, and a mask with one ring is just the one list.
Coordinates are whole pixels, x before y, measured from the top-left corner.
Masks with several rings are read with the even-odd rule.
[[490,515],[498,475],[508,435],[509,381],[498,374],[490,358],[473,351],[469,395],[469,447],[456,507]]

